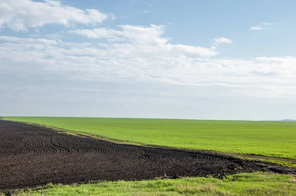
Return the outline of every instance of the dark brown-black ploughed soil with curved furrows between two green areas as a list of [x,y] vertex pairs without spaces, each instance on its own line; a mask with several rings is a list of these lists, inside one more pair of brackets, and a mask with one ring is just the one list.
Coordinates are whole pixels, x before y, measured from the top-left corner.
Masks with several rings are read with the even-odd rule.
[[19,122],[0,121],[0,191],[51,183],[225,176],[254,171],[296,174],[207,152],[114,144]]

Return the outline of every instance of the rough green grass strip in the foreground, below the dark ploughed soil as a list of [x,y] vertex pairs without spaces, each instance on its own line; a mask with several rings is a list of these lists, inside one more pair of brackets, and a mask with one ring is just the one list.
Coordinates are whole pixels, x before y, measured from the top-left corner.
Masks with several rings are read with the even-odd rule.
[[270,173],[235,174],[217,178],[182,178],[144,181],[52,185],[19,192],[17,196],[295,196],[292,176]]

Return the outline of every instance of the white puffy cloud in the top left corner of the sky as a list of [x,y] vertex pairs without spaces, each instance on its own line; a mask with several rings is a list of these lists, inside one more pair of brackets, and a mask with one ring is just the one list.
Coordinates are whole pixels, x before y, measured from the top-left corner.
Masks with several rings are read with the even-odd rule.
[[[54,14],[53,14],[54,13]],[[9,28],[17,32],[28,32],[28,28],[44,25],[98,24],[109,15],[96,9],[81,10],[63,5],[61,1],[5,0],[0,3],[0,29]],[[111,15],[111,18],[114,18]]]

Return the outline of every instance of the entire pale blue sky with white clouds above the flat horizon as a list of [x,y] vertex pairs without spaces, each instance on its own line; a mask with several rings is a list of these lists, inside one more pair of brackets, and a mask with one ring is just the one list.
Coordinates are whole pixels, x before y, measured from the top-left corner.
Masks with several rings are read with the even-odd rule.
[[0,0],[0,116],[296,119],[295,0]]

